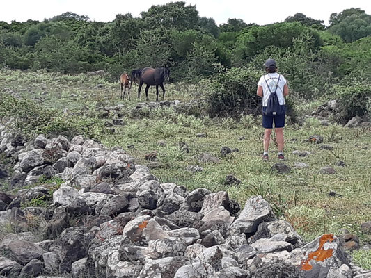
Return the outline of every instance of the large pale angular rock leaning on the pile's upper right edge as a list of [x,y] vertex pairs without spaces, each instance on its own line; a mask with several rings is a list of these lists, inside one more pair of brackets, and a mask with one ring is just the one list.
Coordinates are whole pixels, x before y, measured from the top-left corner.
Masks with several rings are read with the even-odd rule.
[[244,209],[230,229],[237,234],[255,233],[260,223],[271,220],[271,218],[273,218],[273,212],[268,202],[261,196],[253,196],[248,199]]

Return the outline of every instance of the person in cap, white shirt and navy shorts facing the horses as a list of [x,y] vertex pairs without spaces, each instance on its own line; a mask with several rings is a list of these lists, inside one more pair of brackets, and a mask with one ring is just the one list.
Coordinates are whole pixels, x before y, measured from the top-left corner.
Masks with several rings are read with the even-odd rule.
[[[269,58],[265,61],[265,71],[267,74],[260,77],[258,82],[257,95],[262,97],[262,126],[265,128],[264,132],[264,152],[262,159],[267,161],[269,142],[271,140],[271,131],[273,129],[276,132],[276,140],[278,145],[278,159],[285,160],[283,155],[283,127],[285,127],[285,97],[289,94],[289,88],[287,86],[287,81],[282,74],[277,73],[277,65],[274,59]],[[269,97],[271,94],[276,92],[276,97],[281,107],[282,113],[277,113],[277,115],[267,115],[267,104],[269,102]]]

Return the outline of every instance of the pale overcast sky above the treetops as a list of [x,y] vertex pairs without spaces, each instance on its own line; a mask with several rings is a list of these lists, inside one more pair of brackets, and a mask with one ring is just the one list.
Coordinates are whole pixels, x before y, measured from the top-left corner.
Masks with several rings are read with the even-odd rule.
[[[0,21],[26,21],[43,19],[72,12],[87,15],[91,20],[110,22],[116,14],[132,13],[138,17],[150,6],[169,3],[168,0],[0,0]],[[328,24],[331,13],[340,13],[346,8],[361,8],[371,14],[369,0],[191,0],[203,17],[214,18],[216,24],[228,18],[241,18],[246,23],[259,25],[283,22],[286,17],[303,13],[307,17],[324,20]]]

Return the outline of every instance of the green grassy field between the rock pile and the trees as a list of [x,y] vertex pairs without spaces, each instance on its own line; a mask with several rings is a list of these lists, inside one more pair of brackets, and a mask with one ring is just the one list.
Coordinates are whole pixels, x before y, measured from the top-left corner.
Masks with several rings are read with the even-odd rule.
[[[345,228],[356,233],[362,243],[371,243],[371,236],[362,234],[360,228],[361,223],[370,221],[371,215],[370,129],[345,129],[336,124],[322,126],[310,116],[304,117],[305,122],[300,125],[289,123],[285,128],[285,163],[292,169],[288,174],[278,174],[271,170],[271,166],[278,162],[274,140],[270,160],[261,160],[263,129],[259,118],[210,119],[176,113],[173,108],[161,108],[148,112],[145,117],[134,117],[129,113],[130,108],[144,101],[144,92],[138,101],[134,86],[132,101],[121,101],[118,83],[86,74],[63,76],[3,70],[0,84],[1,90],[10,88],[19,95],[35,99],[42,106],[70,111],[84,108],[94,112],[102,106],[124,104],[127,107],[123,115],[125,125],[114,126],[114,133],[102,133],[100,140],[109,147],[123,147],[136,158],[136,163],[144,165],[153,165],[145,160],[145,154],[157,151],[158,163],[152,172],[161,182],[175,182],[189,190],[198,187],[226,190],[242,206],[249,196],[259,194],[271,202],[277,215],[289,221],[306,240],[329,232],[338,234]],[[204,97],[206,92],[206,85],[169,84],[165,98],[189,101]],[[155,100],[155,88],[150,89],[149,95],[152,101]],[[297,107],[301,115],[310,115],[320,103],[313,101]],[[205,137],[196,137],[198,133],[205,133]],[[321,144],[306,141],[315,134],[323,136],[324,144],[333,149],[321,149]],[[159,140],[166,144],[159,144]],[[189,153],[179,147],[180,142],[187,143]],[[127,148],[128,145],[134,145],[134,148]],[[238,152],[221,156],[223,146],[237,148]],[[310,154],[301,157],[292,154],[294,150]],[[200,163],[198,158],[204,152],[219,157],[221,162]],[[337,166],[338,161],[344,161],[346,166]],[[294,167],[299,162],[309,166]],[[189,172],[189,165],[200,165],[203,171]],[[322,174],[320,169],[327,165],[336,173]],[[228,174],[233,174],[242,183],[227,185]],[[330,197],[330,191],[335,191],[336,196]],[[370,252],[366,256],[370,265]]]

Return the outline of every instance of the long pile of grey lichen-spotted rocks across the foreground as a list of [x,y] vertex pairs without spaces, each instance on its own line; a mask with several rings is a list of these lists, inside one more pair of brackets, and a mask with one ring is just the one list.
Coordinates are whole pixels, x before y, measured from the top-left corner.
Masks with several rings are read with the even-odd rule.
[[[260,196],[240,210],[224,191],[160,183],[123,149],[82,136],[38,136],[16,149],[5,129],[0,136],[23,177],[14,186],[31,186],[0,194],[0,224],[24,231],[35,218],[45,223],[43,238],[3,237],[0,277],[370,277],[339,238],[305,244]],[[34,186],[42,176],[65,182],[51,197],[47,185]],[[24,206],[34,199],[51,204]]]

